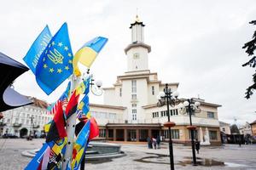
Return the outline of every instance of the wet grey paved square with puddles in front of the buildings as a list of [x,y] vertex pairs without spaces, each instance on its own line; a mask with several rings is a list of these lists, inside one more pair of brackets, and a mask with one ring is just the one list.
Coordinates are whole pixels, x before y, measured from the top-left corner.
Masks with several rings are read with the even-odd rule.
[[[0,169],[18,170],[26,167],[31,158],[21,156],[24,150],[32,150],[42,146],[44,139],[0,139]],[[126,156],[113,160],[90,161],[85,165],[87,170],[141,170],[170,169],[168,144],[162,144],[160,150],[148,149],[147,144],[121,144]],[[256,169],[256,144],[228,144],[221,147],[201,147],[199,161],[207,158],[206,163],[223,161],[224,165],[196,166],[190,165],[191,149],[189,146],[174,144],[175,169]],[[213,161],[212,161],[213,160]],[[205,162],[205,161],[203,161]],[[218,163],[218,162],[217,162]]]

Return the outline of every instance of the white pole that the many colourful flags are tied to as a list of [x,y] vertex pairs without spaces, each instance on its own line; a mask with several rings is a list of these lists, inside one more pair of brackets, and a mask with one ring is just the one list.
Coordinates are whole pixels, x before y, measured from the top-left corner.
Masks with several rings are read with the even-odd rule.
[[[80,82],[80,77],[76,77],[75,74],[72,75],[72,81],[70,86],[70,94],[73,93],[73,90],[78,86]],[[67,163],[71,163],[72,161],[72,154],[73,154],[73,139],[74,139],[74,133],[76,128],[76,119],[77,114],[73,114],[67,119],[67,148],[64,155],[64,158],[61,163],[61,169],[65,170],[67,168]]]

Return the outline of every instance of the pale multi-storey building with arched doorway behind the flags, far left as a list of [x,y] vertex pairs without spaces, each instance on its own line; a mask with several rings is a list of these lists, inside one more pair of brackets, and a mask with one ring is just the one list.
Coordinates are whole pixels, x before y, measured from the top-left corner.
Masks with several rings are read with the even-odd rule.
[[25,105],[13,110],[3,111],[0,120],[0,137],[3,134],[13,134],[24,137],[32,134],[38,137],[44,133],[44,124],[52,119],[47,114],[48,104],[40,99],[33,98],[32,105]]

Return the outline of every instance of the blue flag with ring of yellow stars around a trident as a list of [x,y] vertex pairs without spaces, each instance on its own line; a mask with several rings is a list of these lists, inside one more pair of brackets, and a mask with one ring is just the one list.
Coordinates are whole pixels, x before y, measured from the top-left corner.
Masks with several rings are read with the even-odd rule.
[[49,95],[71,74],[73,74],[73,52],[67,23],[64,23],[41,54],[36,69],[36,79],[39,87]]

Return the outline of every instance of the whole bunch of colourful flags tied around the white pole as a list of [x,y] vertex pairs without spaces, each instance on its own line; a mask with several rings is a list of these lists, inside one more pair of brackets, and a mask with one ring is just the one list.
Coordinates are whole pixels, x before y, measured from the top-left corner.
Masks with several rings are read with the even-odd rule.
[[[24,60],[35,75],[39,87],[46,94],[51,94],[67,77],[72,74],[76,77],[81,75],[78,62],[90,68],[106,42],[108,38],[96,37],[86,42],[73,56],[67,23],[64,23],[53,37],[46,26],[32,43]],[[83,116],[86,119],[79,119],[77,126],[80,131],[73,144],[73,156],[68,160],[66,169],[79,169],[87,145],[99,134],[96,120],[90,116],[89,92],[90,77],[86,77],[74,89],[71,89],[71,82],[68,82],[61,97],[50,107],[49,114],[54,117],[44,126],[46,141],[26,170],[61,169],[67,147],[66,122],[73,114],[76,114],[77,118]],[[84,95],[84,98],[79,102],[80,95]]]

